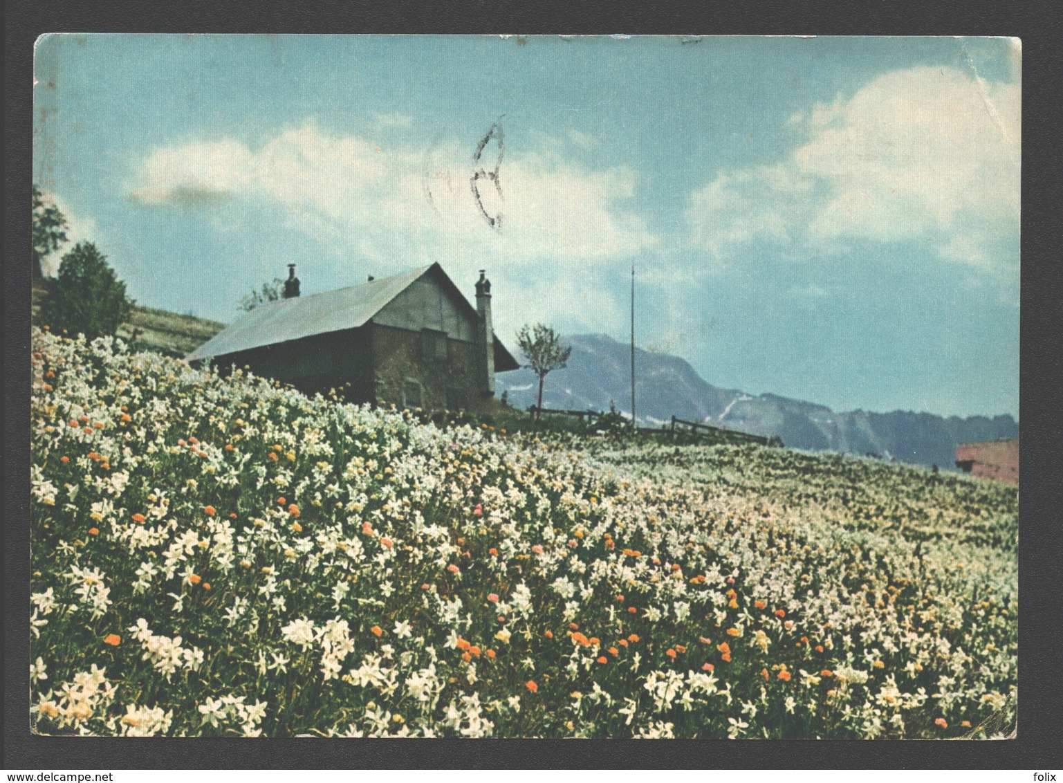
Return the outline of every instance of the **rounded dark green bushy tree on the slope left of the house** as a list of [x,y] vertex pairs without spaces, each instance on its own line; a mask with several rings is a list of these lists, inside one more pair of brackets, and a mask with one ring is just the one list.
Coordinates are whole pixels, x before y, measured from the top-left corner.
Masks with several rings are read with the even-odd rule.
[[112,335],[130,316],[133,300],[125,283],[92,243],[78,243],[63,256],[55,285],[40,305],[40,318],[52,330],[84,334],[88,339]]

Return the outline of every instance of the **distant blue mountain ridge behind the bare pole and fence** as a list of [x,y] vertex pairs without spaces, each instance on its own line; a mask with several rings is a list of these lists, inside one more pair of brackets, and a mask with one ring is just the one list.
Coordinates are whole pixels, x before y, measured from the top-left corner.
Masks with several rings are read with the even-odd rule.
[[[601,334],[567,338],[572,355],[566,369],[546,377],[545,407],[630,412],[630,347]],[[522,369],[500,374],[499,394],[517,407],[535,404],[537,379]],[[672,416],[707,421],[758,435],[778,435],[790,447],[815,451],[877,454],[901,462],[954,469],[960,443],[1018,437],[1011,416],[944,418],[894,411],[836,413],[825,405],[773,394],[747,395],[707,383],[678,356],[636,349],[636,407],[647,423]]]

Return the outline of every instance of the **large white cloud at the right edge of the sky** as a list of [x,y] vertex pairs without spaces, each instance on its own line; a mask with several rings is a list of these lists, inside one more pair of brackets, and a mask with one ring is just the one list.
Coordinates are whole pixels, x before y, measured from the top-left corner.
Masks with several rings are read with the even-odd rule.
[[753,239],[819,252],[915,239],[975,267],[1017,268],[1017,84],[917,67],[791,116],[806,141],[771,166],[725,172],[692,195],[696,241],[718,256]]

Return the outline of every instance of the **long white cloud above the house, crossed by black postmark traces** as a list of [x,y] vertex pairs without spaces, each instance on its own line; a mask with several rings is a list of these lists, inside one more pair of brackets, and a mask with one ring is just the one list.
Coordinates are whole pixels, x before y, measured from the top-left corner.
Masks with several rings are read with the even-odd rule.
[[[495,156],[488,148],[485,168]],[[573,305],[580,301],[584,321],[614,320],[612,303],[596,299],[588,309],[580,297],[594,289],[598,270],[658,244],[625,204],[635,193],[634,172],[590,169],[549,150],[507,152],[499,170],[501,199],[488,180],[477,183],[488,215],[501,214],[492,228],[473,195],[470,157],[453,141],[422,151],[305,124],[257,149],[233,138],[156,149],[130,193],[150,205],[243,199],[283,207],[289,228],[336,250],[333,261],[315,260],[333,267],[308,269],[304,283],[342,279],[355,265],[381,277],[438,261],[459,285],[489,268],[496,290],[521,293],[507,311],[513,317],[574,323],[580,319]],[[564,290],[560,279],[568,281]]]

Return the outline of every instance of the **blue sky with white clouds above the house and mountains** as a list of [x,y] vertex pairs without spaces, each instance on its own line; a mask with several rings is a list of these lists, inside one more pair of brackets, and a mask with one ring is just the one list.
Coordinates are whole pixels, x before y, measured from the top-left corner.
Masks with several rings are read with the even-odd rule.
[[34,179],[141,304],[439,261],[505,341],[627,339],[634,262],[638,343],[712,384],[1018,416],[1015,40],[54,35],[35,74]]

